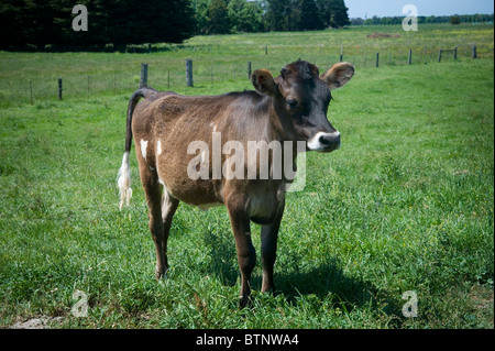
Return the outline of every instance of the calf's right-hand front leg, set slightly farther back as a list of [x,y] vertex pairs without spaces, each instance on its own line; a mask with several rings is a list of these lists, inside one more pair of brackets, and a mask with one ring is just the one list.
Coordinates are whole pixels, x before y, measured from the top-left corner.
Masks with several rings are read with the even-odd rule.
[[285,200],[277,208],[275,220],[272,224],[262,226],[261,229],[261,249],[263,265],[262,292],[275,292],[273,284],[273,266],[276,260],[278,229],[280,227],[282,216],[284,215]]

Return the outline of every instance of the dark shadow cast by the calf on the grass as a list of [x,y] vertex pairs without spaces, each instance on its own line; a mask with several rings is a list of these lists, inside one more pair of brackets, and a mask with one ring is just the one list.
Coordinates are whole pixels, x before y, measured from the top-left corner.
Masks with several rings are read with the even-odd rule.
[[[210,262],[206,266],[224,285],[234,286],[240,276],[237,262],[235,244],[228,231],[207,232],[205,243],[210,250]],[[280,253],[279,253],[280,254]],[[257,260],[260,261],[260,260]],[[282,261],[282,260],[280,260]],[[299,260],[298,260],[299,261]],[[302,260],[300,260],[302,261]],[[260,290],[262,285],[261,263],[253,272],[251,284],[253,290]],[[316,296],[318,299],[331,299],[334,307],[351,311],[355,308],[371,309],[388,316],[400,314],[402,305],[397,299],[387,296],[375,285],[360,277],[345,275],[338,260],[329,259],[317,266],[289,272],[284,270],[284,262],[275,263],[275,295],[283,295],[290,305],[297,305],[298,299]]]

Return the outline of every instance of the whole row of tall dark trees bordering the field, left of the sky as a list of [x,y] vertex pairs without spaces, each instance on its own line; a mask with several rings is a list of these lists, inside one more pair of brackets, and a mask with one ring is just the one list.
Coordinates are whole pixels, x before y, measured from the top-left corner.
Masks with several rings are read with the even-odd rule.
[[[75,31],[76,4],[87,31]],[[2,0],[0,50],[125,50],[196,34],[305,31],[350,24],[343,0]]]

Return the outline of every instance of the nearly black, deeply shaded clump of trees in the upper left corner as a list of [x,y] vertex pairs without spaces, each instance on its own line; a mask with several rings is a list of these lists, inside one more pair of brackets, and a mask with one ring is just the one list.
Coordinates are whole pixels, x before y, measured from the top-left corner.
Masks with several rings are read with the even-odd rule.
[[[112,43],[180,43],[194,34],[190,0],[78,0],[88,10],[88,31],[76,32],[72,0],[2,0],[1,46],[94,50]],[[4,34],[6,33],[6,34]],[[11,34],[13,33],[13,35]],[[3,41],[3,39],[7,39]]]

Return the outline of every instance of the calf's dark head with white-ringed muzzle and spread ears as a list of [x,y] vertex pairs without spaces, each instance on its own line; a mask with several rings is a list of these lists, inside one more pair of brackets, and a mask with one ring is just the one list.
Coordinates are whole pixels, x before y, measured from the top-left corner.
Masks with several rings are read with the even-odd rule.
[[349,63],[336,64],[320,75],[317,66],[298,61],[283,67],[275,79],[268,70],[258,69],[251,80],[258,92],[273,98],[285,136],[307,141],[307,150],[331,152],[340,146],[340,133],[327,119],[330,90],[344,86],[353,75]]

